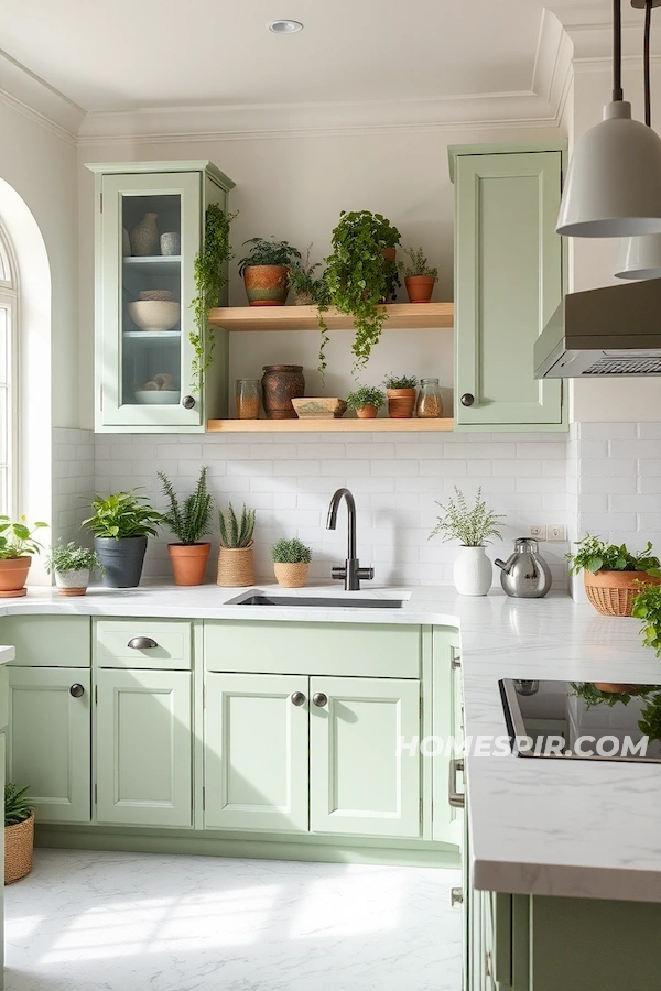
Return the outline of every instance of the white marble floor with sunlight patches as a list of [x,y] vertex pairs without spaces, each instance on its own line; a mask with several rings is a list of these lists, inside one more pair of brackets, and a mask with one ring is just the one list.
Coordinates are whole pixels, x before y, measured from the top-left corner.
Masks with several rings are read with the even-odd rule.
[[456,871],[36,850],[7,991],[459,991]]

